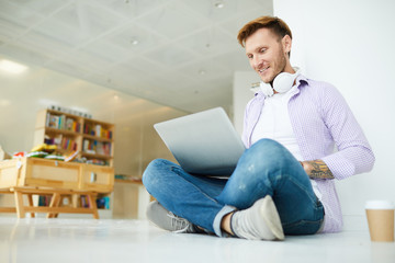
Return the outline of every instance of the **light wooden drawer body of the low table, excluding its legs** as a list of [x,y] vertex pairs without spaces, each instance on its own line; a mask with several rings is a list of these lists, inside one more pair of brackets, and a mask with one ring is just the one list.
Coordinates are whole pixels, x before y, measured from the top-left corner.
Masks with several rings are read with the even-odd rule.
[[108,194],[114,187],[114,168],[26,157],[0,162],[0,188],[15,186]]

